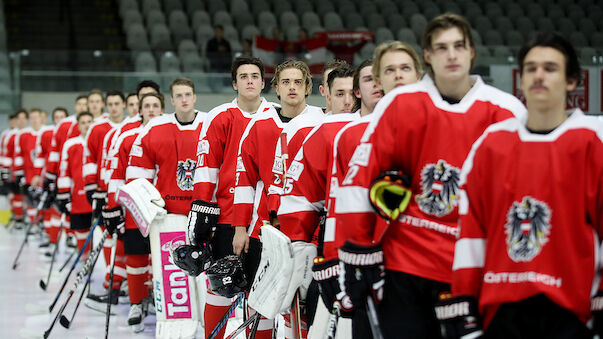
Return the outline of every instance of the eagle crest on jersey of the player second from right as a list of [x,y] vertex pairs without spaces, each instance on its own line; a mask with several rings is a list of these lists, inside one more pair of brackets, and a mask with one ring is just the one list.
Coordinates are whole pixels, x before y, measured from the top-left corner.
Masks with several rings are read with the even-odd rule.
[[436,217],[450,213],[458,205],[459,180],[459,169],[444,160],[423,167],[423,193],[415,197],[421,211]]

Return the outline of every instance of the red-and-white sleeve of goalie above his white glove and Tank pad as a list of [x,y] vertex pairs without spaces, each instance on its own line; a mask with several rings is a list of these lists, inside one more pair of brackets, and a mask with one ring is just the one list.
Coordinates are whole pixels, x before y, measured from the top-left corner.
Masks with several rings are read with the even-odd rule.
[[[150,126],[147,126],[150,127]],[[149,128],[138,135],[130,150],[128,167],[126,169],[126,183],[134,179],[145,178],[153,182],[155,178],[155,152],[150,146],[153,137]]]

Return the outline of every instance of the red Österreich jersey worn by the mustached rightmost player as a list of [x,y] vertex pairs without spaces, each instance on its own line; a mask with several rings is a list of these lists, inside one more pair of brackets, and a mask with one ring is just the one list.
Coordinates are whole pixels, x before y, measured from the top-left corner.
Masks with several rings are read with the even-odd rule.
[[461,172],[452,292],[502,303],[544,293],[590,318],[603,235],[603,122],[575,110],[549,134],[490,126]]

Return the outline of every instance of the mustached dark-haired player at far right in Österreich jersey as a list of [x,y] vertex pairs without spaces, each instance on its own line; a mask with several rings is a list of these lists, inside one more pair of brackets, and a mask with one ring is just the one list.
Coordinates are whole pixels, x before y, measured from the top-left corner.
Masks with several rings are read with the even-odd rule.
[[[479,333],[479,322],[466,322],[479,314],[488,338],[592,338],[586,322],[600,269],[603,124],[565,111],[581,77],[567,40],[539,34],[517,60],[527,122],[490,126],[463,165],[455,297],[436,314],[448,338]],[[463,311],[450,312],[459,305]]]

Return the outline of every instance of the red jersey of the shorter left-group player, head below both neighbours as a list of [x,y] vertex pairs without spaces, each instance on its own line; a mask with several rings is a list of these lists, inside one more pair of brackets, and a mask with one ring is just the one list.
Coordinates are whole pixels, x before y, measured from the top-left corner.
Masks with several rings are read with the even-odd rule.
[[71,213],[92,212],[92,206],[86,199],[82,169],[84,159],[84,138],[70,138],[63,144],[57,190],[59,193],[71,192]]

